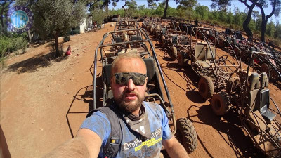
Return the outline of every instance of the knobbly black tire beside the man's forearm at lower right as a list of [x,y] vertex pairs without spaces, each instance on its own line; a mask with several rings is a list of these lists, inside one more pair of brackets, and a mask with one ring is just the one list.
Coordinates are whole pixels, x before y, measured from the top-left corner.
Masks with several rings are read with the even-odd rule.
[[186,118],[176,120],[179,141],[185,150],[190,154],[197,147],[197,133],[191,121]]

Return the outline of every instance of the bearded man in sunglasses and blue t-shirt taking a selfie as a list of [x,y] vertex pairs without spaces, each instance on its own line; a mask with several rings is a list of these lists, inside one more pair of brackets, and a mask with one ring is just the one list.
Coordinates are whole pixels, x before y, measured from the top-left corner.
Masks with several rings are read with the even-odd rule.
[[[143,101],[147,79],[145,62],[136,53],[119,55],[112,63],[113,106],[122,117],[122,141],[116,157],[159,157],[162,145],[170,157],[188,157],[171,135],[162,107]],[[47,157],[105,157],[103,147],[110,132],[107,116],[94,112],[81,125],[76,138]]]

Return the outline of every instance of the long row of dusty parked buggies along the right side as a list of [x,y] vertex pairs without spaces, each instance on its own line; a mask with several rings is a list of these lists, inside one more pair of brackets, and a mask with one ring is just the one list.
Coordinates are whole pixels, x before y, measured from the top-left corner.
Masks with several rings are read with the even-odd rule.
[[146,18],[142,27],[172,60],[198,75],[200,96],[211,101],[216,115],[235,110],[254,145],[270,157],[281,157],[281,114],[268,88],[269,81],[281,79],[278,51],[247,41],[241,32],[218,32],[183,20]]

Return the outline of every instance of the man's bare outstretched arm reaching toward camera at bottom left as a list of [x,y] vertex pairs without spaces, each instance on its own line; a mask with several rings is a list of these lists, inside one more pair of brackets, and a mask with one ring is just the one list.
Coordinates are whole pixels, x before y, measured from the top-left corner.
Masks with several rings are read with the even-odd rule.
[[89,129],[79,129],[76,138],[68,140],[63,145],[55,148],[44,158],[55,157],[98,157],[101,139]]

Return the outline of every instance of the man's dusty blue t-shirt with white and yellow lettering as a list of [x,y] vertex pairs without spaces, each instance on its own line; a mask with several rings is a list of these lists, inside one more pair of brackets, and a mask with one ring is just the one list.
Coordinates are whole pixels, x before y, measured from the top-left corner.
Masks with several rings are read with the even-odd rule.
[[[169,121],[163,108],[156,103],[143,102],[143,105],[148,113],[152,133],[150,139],[142,141],[140,136],[135,136],[131,133],[124,121],[121,121],[121,150],[119,150],[116,157],[159,157],[162,140],[169,140],[172,137],[169,130]],[[106,145],[107,138],[111,132],[110,121],[106,115],[103,112],[94,112],[91,117],[85,119],[80,129],[90,129],[100,136],[102,145],[98,156],[104,157],[103,147]]]

